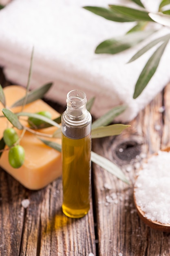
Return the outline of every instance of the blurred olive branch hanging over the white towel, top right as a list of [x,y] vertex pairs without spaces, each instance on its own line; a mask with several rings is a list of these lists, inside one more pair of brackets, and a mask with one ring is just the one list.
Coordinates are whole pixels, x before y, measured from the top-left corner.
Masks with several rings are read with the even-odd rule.
[[[159,4],[157,13],[148,12],[140,0],[131,1],[137,4],[137,9],[112,4],[108,5],[108,8],[96,6],[83,7],[107,20],[114,22],[135,22],[135,26],[125,35],[117,38],[110,38],[99,43],[95,49],[96,54],[117,54],[138,45],[153,33],[157,32],[155,29],[147,29],[151,22],[157,22],[161,25],[170,27],[170,10],[164,10],[168,7],[168,4],[170,4],[170,0],[162,0]],[[157,49],[152,56],[150,56],[137,79],[133,94],[134,99],[143,92],[144,88],[146,88],[146,85],[148,85],[150,79],[152,79],[152,76],[155,74],[169,40],[170,34],[152,40],[128,61],[128,63],[135,61],[149,49],[157,45]]]

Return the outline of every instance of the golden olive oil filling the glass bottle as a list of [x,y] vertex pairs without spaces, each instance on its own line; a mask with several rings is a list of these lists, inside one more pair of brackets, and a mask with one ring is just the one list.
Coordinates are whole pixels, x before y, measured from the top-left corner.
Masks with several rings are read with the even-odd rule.
[[91,143],[90,135],[70,139],[62,135],[63,144],[63,212],[80,218],[90,207]]

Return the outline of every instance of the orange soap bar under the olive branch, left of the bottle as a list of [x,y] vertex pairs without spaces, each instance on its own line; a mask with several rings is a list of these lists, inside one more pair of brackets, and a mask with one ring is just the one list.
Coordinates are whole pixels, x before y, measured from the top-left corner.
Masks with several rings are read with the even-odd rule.
[[[25,96],[26,89],[18,85],[9,85],[4,88],[4,94],[6,98],[6,108],[9,108],[12,112],[20,112],[22,107],[10,108],[10,106]],[[0,103],[0,109],[4,108]],[[33,103],[26,104],[23,112],[40,112],[49,111],[52,115],[52,119],[57,118],[60,114],[55,111],[47,103],[38,99]],[[0,110],[0,116],[3,116]],[[23,117],[23,119],[26,117]],[[23,121],[25,124],[26,122]],[[21,121],[22,123],[22,121]],[[8,126],[12,126],[7,122],[6,117],[0,117],[0,139],[3,137],[3,131]],[[38,130],[46,134],[53,134],[57,128],[52,126]],[[20,136],[22,130],[16,129],[16,132]],[[59,138],[46,138],[46,140],[52,140],[61,144]],[[57,150],[46,146],[38,137],[31,132],[26,131],[23,138],[20,141],[20,145],[25,150],[24,164],[20,168],[13,168],[8,161],[8,150],[5,150],[0,157],[0,166],[7,171],[11,176],[18,180],[23,186],[31,190],[38,190],[51,183],[62,174],[62,160],[61,153]]]

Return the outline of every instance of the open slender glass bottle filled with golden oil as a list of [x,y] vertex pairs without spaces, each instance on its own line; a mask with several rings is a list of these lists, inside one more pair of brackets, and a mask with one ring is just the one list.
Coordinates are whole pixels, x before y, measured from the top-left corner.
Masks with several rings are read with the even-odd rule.
[[68,217],[81,218],[90,208],[91,114],[84,92],[68,92],[66,102],[62,114],[62,211]]

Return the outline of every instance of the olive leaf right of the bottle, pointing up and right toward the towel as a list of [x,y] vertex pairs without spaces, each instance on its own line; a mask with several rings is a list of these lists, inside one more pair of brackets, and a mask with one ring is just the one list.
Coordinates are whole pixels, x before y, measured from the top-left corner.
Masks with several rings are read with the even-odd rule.
[[127,107],[124,105],[120,105],[112,108],[106,114],[104,114],[102,117],[99,117],[97,120],[95,120],[92,123],[92,130],[96,127],[106,126],[110,124],[113,121],[113,119],[115,119],[115,117],[123,113],[126,110],[126,108]]

